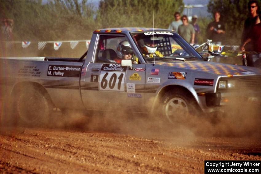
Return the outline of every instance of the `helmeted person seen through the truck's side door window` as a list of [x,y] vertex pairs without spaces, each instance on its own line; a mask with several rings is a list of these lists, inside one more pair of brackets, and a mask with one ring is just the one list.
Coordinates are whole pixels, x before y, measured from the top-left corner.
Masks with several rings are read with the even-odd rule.
[[130,47],[128,41],[122,41],[117,47],[117,58],[114,59],[116,63],[121,63],[121,60],[131,59],[132,64],[138,64],[138,57],[134,56],[134,52]]

